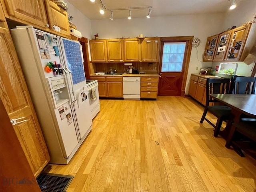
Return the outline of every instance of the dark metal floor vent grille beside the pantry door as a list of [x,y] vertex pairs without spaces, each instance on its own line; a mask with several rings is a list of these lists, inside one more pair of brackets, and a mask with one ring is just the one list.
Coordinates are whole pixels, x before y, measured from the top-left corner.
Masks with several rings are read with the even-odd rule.
[[37,178],[42,192],[65,192],[74,176],[41,173]]

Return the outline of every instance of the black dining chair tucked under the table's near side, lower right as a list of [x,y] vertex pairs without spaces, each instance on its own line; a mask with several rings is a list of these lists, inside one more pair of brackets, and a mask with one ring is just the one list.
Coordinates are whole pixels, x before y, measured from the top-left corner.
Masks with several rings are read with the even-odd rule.
[[[239,140],[238,138],[241,138],[241,137],[236,137],[237,133],[242,134],[247,139],[244,138],[243,140]],[[253,146],[253,145],[250,145],[249,143],[252,143],[252,142],[254,143],[256,142],[256,122],[240,121],[240,122],[232,123],[230,134],[227,138],[226,145],[225,145],[226,148],[230,148],[232,144],[232,146],[240,156],[244,156],[244,154],[241,151],[242,149],[246,153],[256,158],[255,151],[253,152],[250,149],[250,146]]]

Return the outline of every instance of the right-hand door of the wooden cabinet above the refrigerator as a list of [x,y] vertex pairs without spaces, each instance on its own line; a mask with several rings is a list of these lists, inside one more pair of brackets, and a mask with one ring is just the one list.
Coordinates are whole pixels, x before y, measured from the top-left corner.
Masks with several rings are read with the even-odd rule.
[[54,31],[59,32],[60,35],[70,36],[68,12],[50,0],[46,0],[45,3],[50,29],[54,30],[57,26],[60,30]]

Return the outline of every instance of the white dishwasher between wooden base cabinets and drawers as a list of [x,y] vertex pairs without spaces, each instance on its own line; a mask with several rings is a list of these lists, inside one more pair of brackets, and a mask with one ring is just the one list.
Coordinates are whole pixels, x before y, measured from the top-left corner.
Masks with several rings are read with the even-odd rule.
[[140,100],[140,77],[123,77],[124,99]]

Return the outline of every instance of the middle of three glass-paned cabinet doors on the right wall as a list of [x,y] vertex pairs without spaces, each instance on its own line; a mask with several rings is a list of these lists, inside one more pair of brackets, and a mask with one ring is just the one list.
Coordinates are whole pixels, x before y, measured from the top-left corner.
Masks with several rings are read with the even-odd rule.
[[224,61],[232,31],[219,34],[213,61]]

